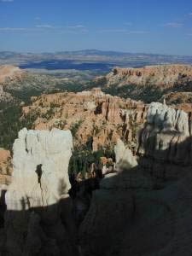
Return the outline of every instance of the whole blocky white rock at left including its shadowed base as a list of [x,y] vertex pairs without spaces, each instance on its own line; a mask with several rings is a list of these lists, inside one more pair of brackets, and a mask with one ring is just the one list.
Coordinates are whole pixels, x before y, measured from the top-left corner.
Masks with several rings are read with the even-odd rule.
[[69,203],[72,148],[70,131],[19,132],[13,148],[13,181],[5,195],[10,255],[72,255],[60,209],[61,196]]

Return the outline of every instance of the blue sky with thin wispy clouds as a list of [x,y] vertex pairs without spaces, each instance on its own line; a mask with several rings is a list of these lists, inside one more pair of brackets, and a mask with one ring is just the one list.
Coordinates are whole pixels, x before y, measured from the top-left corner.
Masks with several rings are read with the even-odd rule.
[[0,51],[192,55],[192,0],[0,0]]

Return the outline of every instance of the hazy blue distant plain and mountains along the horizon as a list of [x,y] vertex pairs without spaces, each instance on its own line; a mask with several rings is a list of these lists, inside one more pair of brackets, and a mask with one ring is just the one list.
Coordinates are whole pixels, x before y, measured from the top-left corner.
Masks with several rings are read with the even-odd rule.
[[192,56],[133,54],[116,51],[85,49],[77,51],[61,51],[55,53],[15,53],[0,52],[0,65],[9,64],[21,68],[47,70],[75,69],[108,73],[113,67],[143,67],[162,64],[192,65]]

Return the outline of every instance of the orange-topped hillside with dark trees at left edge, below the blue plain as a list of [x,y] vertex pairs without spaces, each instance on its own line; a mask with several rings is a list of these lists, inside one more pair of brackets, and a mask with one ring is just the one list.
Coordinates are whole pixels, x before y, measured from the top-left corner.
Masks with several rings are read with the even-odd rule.
[[73,83],[72,81],[73,79],[26,72],[11,65],[0,66],[0,108],[26,102],[30,96],[39,95],[43,91],[60,91],[61,84],[64,86]]

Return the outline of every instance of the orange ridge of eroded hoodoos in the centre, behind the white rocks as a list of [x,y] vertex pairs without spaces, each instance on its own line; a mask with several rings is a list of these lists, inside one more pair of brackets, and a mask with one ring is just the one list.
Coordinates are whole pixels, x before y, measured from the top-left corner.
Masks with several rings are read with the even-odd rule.
[[36,113],[35,129],[52,127],[71,129],[74,145],[91,142],[94,151],[110,147],[118,138],[137,140],[137,130],[147,113],[143,102],[104,94],[100,89],[81,93],[56,93],[32,99],[32,106],[23,108],[24,117]]

